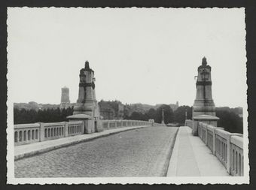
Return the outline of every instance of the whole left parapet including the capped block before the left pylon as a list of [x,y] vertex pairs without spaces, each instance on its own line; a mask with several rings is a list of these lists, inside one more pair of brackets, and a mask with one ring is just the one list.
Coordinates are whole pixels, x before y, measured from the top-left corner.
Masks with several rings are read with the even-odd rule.
[[[135,126],[152,126],[152,122],[137,120],[102,120],[91,116],[73,115],[68,117],[69,122],[38,122],[14,125],[14,146],[37,143],[45,140],[54,140],[71,137],[79,134],[90,134],[108,130]],[[95,125],[95,122],[98,122]]]

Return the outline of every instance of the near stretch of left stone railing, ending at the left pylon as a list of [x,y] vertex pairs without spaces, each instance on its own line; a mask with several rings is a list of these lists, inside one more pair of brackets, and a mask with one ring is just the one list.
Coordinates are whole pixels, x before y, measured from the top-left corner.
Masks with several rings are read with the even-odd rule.
[[84,124],[77,122],[38,122],[14,125],[14,145],[36,143],[83,134]]

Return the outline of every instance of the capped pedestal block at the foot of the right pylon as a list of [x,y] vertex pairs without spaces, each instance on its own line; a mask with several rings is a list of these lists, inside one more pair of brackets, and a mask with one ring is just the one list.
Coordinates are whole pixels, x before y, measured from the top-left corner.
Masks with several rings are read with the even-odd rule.
[[217,116],[209,116],[209,115],[200,115],[200,116],[194,116],[193,117],[193,126],[192,126],[192,134],[194,136],[198,136],[198,124],[199,122],[204,122],[206,124],[213,125],[214,127],[217,127],[218,122]]

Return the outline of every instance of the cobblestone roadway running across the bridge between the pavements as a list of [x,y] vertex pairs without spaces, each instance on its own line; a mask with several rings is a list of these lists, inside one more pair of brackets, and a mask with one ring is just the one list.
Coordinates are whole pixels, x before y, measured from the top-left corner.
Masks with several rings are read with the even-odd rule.
[[178,128],[123,131],[15,161],[15,177],[166,176]]

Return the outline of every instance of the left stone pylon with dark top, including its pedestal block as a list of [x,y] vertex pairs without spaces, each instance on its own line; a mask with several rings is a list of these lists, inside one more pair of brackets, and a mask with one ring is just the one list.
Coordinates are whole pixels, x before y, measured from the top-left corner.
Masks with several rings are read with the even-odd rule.
[[73,115],[68,119],[83,120],[84,132],[87,134],[102,131],[102,117],[99,114],[99,105],[95,95],[94,71],[90,68],[89,62],[85,62],[79,77],[78,101],[75,104]]

